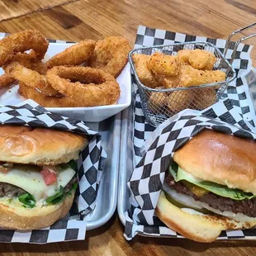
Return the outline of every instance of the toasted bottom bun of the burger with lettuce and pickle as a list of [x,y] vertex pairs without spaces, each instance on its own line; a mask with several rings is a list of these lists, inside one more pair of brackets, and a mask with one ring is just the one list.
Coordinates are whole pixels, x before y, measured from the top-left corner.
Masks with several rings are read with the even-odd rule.
[[216,240],[221,230],[249,229],[256,225],[256,219],[250,222],[240,222],[224,216],[203,215],[197,211],[183,211],[169,202],[164,192],[160,194],[155,214],[170,229],[188,239],[203,243]]

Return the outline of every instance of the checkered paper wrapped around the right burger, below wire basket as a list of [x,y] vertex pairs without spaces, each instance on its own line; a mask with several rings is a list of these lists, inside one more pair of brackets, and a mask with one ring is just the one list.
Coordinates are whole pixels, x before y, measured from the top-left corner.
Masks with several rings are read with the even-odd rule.
[[[244,121],[237,107],[232,106],[230,99],[221,100],[206,111],[181,111],[165,121],[151,133],[140,149],[142,158],[128,183],[131,207],[126,212],[126,239],[133,238],[137,233],[181,237],[154,216],[154,209],[164,183],[165,171],[174,152],[205,128],[256,140],[256,129]],[[225,231],[222,232],[222,238],[229,238],[229,234],[232,234],[232,238],[244,238],[251,234],[250,236],[256,239],[256,230],[249,232]]]

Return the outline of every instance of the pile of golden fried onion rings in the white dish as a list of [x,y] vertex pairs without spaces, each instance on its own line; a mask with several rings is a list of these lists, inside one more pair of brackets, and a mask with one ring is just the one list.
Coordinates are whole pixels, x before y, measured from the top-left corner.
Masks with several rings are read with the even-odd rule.
[[48,45],[39,31],[31,30],[0,40],[0,66],[5,71],[0,87],[17,80],[21,95],[44,107],[116,104],[121,91],[115,78],[130,51],[126,39],[83,40],[44,63]]

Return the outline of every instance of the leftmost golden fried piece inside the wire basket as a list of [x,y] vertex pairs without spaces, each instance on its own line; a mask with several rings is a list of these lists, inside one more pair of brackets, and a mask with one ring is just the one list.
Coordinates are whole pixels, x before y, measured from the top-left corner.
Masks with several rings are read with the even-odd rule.
[[154,77],[153,73],[148,69],[147,62],[150,59],[150,55],[132,55],[132,59],[135,63],[136,73],[140,79],[140,82],[149,88],[156,88],[159,86],[159,81]]

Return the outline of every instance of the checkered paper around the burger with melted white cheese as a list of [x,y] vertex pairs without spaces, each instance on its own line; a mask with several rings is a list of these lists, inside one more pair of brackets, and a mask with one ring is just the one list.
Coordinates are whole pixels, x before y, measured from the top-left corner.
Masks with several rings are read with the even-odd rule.
[[84,239],[86,222],[83,220],[94,209],[97,190],[102,180],[102,168],[107,158],[102,149],[101,135],[90,130],[83,121],[53,114],[36,102],[27,100],[16,106],[0,107],[0,125],[20,125],[69,130],[88,136],[88,146],[77,161],[78,190],[68,216],[43,230],[0,230],[0,242],[45,244]]

